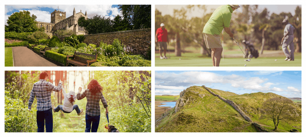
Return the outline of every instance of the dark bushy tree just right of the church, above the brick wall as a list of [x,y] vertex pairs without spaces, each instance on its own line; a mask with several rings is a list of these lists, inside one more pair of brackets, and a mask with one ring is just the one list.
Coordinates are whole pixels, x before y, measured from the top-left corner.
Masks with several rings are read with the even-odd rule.
[[84,27],[85,30],[88,31],[88,34],[113,32],[113,23],[110,17],[101,17],[101,15],[98,14],[87,20],[85,17],[80,17],[78,20],[78,25],[80,27]]

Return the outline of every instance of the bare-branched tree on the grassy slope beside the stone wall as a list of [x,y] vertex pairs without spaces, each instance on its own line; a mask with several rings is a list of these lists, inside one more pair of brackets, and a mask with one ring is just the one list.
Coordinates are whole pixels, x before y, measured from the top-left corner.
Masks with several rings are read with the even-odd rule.
[[294,120],[296,117],[291,113],[294,110],[293,101],[286,97],[274,97],[263,102],[260,119],[271,120],[274,123],[274,131],[278,124]]

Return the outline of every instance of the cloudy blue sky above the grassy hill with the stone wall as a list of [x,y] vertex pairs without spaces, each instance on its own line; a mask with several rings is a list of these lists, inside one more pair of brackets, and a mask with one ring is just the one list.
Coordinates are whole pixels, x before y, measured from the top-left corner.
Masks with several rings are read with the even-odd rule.
[[301,71],[155,71],[155,95],[179,95],[190,86],[236,94],[272,92],[301,97]]

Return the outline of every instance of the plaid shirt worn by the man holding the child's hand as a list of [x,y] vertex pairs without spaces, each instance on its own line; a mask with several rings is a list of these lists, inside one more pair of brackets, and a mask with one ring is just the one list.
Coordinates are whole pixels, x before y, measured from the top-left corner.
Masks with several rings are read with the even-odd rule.
[[39,82],[35,82],[31,91],[28,108],[31,109],[32,103],[36,96],[37,99],[37,111],[45,111],[51,108],[51,91],[59,92],[62,89],[62,84],[58,83],[58,86],[54,86],[51,82],[47,82],[44,79],[40,79]]

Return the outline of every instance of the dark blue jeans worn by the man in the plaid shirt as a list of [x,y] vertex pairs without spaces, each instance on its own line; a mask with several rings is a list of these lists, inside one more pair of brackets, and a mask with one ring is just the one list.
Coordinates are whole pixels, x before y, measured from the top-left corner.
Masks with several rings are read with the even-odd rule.
[[37,132],[44,132],[46,121],[46,132],[53,130],[52,108],[45,111],[36,111]]

